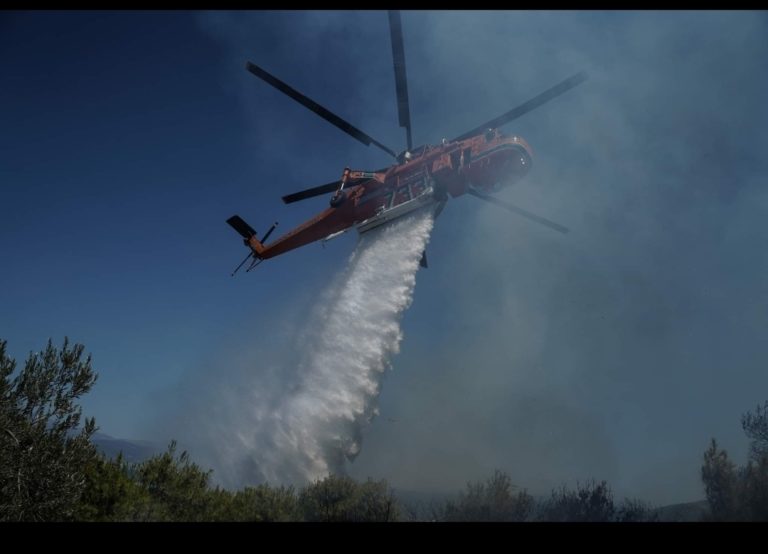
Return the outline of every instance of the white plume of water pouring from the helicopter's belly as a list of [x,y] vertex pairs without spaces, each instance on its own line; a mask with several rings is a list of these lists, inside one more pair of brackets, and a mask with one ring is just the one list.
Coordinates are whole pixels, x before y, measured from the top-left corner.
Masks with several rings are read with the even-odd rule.
[[215,478],[239,487],[344,472],[377,413],[432,225],[431,213],[417,213],[363,235],[347,267],[318,297],[282,367],[264,374],[254,360],[251,372],[227,383],[228,411],[206,424]]

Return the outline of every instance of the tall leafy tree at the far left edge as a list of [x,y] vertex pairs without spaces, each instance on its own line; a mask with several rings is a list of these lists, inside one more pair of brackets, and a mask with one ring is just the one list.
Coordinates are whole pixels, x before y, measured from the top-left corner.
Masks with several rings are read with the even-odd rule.
[[97,456],[93,418],[80,427],[77,400],[96,381],[84,347],[49,340],[16,361],[0,340],[0,520],[70,519],[85,486],[84,468]]

